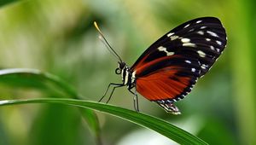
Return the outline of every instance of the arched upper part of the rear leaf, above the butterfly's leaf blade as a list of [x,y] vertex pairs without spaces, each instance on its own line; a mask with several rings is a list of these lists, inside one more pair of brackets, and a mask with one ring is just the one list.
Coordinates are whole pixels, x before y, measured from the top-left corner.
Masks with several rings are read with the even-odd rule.
[[43,73],[37,69],[12,68],[0,70],[0,83],[11,86],[47,90],[60,93],[62,96],[80,98],[69,84],[50,73]]

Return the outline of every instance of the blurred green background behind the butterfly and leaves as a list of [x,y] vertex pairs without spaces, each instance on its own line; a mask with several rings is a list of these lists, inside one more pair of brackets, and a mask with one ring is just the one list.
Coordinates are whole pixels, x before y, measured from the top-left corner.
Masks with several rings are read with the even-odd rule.
[[[117,61],[98,39],[96,20],[130,66],[173,27],[197,17],[224,24],[227,48],[195,89],[167,114],[139,97],[140,108],[210,144],[256,144],[256,16],[253,0],[30,0],[0,4],[0,68],[37,68],[67,80],[84,99],[98,101]],[[8,3],[4,5],[4,3]],[[0,84],[0,99],[50,97],[44,90]],[[133,109],[132,95],[116,90],[110,103]],[[175,144],[154,131],[97,113],[104,145]],[[78,109],[61,105],[0,108],[0,144],[96,144]]]

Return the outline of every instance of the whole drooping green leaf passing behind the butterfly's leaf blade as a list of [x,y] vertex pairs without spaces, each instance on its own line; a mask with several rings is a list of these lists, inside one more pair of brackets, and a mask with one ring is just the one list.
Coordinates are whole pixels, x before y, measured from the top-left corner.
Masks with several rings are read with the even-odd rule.
[[[28,68],[12,68],[0,70],[0,83],[10,85],[12,87],[25,87],[37,90],[44,90],[44,92],[54,93],[54,96],[65,96],[75,99],[84,99],[73,88],[50,73],[43,73],[37,69]],[[80,110],[84,120],[90,126],[90,131],[96,137],[96,142],[100,144],[100,127],[96,113],[90,109]]]

